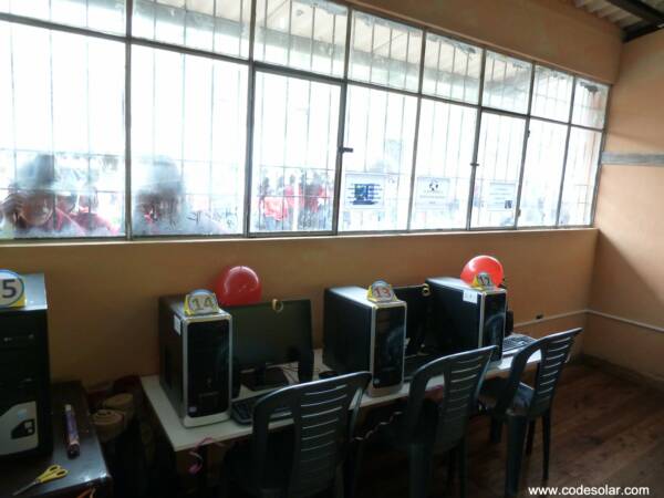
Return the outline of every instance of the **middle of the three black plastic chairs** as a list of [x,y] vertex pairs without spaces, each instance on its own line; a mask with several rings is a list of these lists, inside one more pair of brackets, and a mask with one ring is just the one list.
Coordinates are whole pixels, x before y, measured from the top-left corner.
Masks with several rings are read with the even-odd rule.
[[[413,375],[403,415],[390,427],[388,438],[408,454],[409,496],[426,497],[434,453],[449,452],[450,474],[458,463],[460,496],[466,496],[466,429],[476,409],[479,387],[496,347],[444,356],[421,366]],[[427,397],[427,384],[443,376],[436,400]]]

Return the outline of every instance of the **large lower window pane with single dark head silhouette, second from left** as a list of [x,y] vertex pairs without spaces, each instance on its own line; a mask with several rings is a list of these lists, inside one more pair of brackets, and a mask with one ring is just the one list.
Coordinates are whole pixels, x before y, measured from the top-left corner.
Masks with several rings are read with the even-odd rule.
[[132,89],[134,234],[241,232],[247,68],[135,46]]

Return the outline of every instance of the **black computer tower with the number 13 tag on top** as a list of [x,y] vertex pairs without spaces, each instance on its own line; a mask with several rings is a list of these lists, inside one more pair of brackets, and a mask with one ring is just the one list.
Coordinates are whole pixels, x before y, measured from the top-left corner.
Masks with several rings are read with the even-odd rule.
[[325,289],[323,363],[340,374],[369,371],[370,396],[396,393],[404,382],[406,303],[373,302],[366,289]]

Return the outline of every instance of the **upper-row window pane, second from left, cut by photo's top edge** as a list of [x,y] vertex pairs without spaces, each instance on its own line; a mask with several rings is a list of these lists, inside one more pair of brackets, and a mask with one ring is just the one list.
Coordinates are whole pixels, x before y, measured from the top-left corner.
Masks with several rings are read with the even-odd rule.
[[246,58],[250,0],[135,0],[135,37]]

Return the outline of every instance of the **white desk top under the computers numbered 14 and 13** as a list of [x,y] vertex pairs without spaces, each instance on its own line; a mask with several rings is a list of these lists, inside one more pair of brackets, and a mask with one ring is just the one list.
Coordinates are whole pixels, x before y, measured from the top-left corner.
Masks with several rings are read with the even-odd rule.
[[[511,366],[512,356],[504,357],[500,363],[492,363],[489,365],[487,371],[487,378],[498,376],[509,371]],[[540,361],[539,352],[533,354],[528,361],[529,364],[536,364]],[[314,378],[318,378],[318,372],[329,370],[323,365],[322,350],[315,350],[314,352]],[[287,377],[291,377],[287,372]],[[143,390],[149,400],[159,423],[173,446],[175,452],[183,452],[185,449],[194,448],[200,440],[206,437],[212,438],[216,442],[225,442],[231,439],[239,439],[251,434],[251,425],[240,425],[237,422],[230,419],[226,422],[219,422],[217,424],[204,425],[200,427],[185,427],[175,408],[170,404],[170,401],[166,396],[166,393],[159,385],[158,375],[148,375],[141,377]],[[443,377],[434,377],[430,380],[428,387],[434,388],[443,385]],[[375,406],[390,401],[407,397],[411,384],[404,383],[398,393],[390,394],[387,396],[370,397],[366,394],[362,397],[360,404],[361,407]],[[242,386],[239,397],[255,396],[257,393],[248,391]],[[288,425],[289,421],[280,421],[273,424],[274,427]]]

